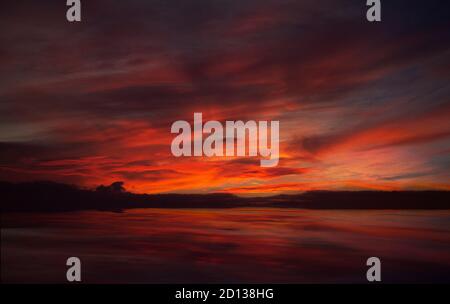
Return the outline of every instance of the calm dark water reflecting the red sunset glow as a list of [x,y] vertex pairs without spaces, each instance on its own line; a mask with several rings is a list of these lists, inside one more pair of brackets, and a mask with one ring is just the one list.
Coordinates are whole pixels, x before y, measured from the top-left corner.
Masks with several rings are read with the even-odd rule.
[[2,216],[3,282],[450,282],[450,211],[140,209]]

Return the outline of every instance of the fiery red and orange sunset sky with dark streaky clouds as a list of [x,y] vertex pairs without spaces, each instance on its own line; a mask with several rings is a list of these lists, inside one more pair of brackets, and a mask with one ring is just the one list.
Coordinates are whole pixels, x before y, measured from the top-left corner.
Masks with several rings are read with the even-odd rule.
[[[0,180],[138,193],[450,189],[448,1],[3,1]],[[280,161],[171,154],[176,120],[280,121]]]

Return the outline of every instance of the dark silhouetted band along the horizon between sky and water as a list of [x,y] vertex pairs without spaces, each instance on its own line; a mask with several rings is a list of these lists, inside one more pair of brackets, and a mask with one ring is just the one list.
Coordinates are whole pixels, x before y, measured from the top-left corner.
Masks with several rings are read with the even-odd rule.
[[450,209],[450,191],[310,191],[297,195],[239,197],[214,194],[135,194],[123,183],[80,189],[55,182],[0,182],[2,212],[65,212],[132,208],[278,207],[302,209]]

